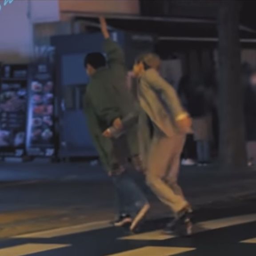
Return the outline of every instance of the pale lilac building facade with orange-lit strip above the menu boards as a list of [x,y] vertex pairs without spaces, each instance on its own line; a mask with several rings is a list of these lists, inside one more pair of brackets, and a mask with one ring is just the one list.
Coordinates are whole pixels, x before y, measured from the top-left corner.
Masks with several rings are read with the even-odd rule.
[[[13,0],[0,10],[0,62],[27,63],[51,51],[50,36],[71,34],[77,13],[139,14],[139,0]],[[108,2],[108,4],[106,4]]]

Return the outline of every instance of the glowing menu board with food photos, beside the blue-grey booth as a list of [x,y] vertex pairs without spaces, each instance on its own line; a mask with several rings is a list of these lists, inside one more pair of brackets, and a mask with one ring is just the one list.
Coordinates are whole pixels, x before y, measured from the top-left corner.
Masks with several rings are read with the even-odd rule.
[[27,153],[30,156],[53,156],[54,82],[48,64],[31,67],[28,96]]

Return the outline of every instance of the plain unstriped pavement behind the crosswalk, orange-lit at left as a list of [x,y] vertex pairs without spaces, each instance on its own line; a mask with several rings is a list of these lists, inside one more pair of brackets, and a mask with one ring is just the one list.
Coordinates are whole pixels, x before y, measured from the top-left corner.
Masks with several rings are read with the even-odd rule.
[[[0,180],[0,237],[114,218],[113,186],[99,165],[1,163]],[[256,171],[186,167],[180,184],[195,209],[256,199]],[[152,204],[148,217],[169,216],[144,188]]]

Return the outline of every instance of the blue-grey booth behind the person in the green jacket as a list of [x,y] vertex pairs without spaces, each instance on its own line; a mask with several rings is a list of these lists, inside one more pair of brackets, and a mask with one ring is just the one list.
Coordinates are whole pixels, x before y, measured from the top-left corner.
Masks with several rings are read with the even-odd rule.
[[[139,53],[154,48],[153,36],[113,32],[112,39],[124,49],[128,69]],[[51,43],[56,48],[59,157],[97,156],[83,111],[83,94],[89,82],[84,57],[103,52],[104,38],[101,33],[53,36]]]

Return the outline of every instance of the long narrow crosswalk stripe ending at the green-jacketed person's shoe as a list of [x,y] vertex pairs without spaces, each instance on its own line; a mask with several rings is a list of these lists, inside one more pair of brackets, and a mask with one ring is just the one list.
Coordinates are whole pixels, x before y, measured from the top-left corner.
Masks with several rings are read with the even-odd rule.
[[112,227],[109,220],[97,221],[92,223],[80,224],[66,228],[56,228],[47,231],[41,231],[31,234],[14,236],[13,238],[53,238],[58,236],[67,236],[72,234],[79,234],[83,232],[98,230],[102,228]]

